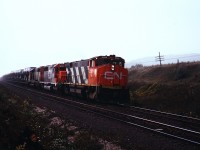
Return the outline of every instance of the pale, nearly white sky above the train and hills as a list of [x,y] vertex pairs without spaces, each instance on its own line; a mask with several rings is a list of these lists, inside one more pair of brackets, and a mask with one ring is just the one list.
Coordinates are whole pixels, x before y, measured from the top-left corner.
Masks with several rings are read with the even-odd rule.
[[115,54],[200,53],[199,0],[0,0],[0,76]]

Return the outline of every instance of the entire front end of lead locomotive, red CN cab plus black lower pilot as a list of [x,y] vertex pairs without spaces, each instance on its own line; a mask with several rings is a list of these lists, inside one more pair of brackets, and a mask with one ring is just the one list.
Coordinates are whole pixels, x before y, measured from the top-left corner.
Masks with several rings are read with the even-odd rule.
[[110,56],[98,56],[89,60],[88,84],[91,99],[100,101],[124,102],[129,100],[126,87],[128,70],[124,68],[124,59]]

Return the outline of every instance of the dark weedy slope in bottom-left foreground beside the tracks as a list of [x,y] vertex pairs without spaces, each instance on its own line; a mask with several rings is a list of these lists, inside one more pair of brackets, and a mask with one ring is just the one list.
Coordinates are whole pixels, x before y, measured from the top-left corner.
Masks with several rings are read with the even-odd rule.
[[27,149],[30,146],[27,142],[29,137],[25,135],[27,131],[35,133],[37,145],[46,150],[104,148],[90,132],[69,130],[71,126],[74,126],[72,122],[51,110],[40,109],[30,100],[23,100],[0,87],[0,149]]

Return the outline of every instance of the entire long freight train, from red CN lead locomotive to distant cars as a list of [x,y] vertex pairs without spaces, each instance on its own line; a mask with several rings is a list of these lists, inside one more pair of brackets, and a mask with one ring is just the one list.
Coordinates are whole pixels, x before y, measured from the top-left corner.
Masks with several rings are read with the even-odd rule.
[[115,55],[29,67],[7,74],[5,78],[23,80],[28,85],[88,100],[127,103],[128,70],[125,61]]

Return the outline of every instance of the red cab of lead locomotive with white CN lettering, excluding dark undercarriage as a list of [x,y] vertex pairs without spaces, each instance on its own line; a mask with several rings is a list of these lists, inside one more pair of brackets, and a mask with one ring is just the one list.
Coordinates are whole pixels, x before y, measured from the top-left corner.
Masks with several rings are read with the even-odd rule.
[[105,88],[123,88],[127,84],[128,71],[121,57],[99,56],[89,61],[88,84]]

